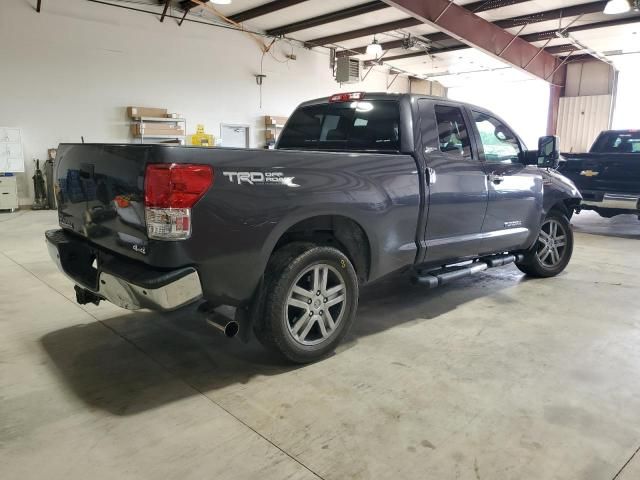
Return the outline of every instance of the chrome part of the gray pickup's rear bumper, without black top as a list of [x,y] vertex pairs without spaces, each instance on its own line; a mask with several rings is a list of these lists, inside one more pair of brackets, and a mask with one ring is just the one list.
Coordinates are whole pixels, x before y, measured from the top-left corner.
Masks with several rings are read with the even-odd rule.
[[71,281],[82,288],[95,293],[99,297],[127,310],[149,308],[151,310],[175,310],[202,298],[202,287],[198,272],[193,272],[159,288],[145,288],[132,282],[100,272],[98,275],[98,289],[84,285],[65,271],[60,260],[58,247],[47,240],[47,248],[51,259]]

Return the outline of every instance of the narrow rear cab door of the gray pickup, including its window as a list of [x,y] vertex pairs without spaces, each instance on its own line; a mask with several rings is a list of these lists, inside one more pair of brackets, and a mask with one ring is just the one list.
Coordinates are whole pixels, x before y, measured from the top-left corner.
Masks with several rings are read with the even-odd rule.
[[445,101],[418,101],[427,167],[427,263],[475,256],[487,209],[486,175],[463,108]]

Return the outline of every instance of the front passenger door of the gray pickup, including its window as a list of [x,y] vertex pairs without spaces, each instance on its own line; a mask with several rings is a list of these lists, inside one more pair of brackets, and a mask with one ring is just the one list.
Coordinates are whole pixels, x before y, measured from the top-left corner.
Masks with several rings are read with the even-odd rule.
[[522,247],[539,227],[542,174],[520,161],[522,143],[502,120],[475,110],[471,116],[489,189],[481,253]]

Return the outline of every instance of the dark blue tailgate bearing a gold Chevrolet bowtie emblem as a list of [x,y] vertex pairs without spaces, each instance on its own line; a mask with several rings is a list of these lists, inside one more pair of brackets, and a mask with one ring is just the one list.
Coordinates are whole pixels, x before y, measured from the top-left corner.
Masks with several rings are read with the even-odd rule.
[[565,158],[559,170],[581,192],[640,193],[640,154],[584,153]]

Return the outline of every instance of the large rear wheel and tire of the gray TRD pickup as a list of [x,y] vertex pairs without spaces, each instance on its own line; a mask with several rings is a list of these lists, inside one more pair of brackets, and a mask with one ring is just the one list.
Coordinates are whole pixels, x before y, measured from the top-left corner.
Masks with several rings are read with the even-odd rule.
[[292,243],[269,262],[264,294],[258,340],[291,362],[309,363],[332,353],[349,331],[358,278],[340,250]]

